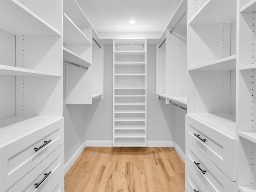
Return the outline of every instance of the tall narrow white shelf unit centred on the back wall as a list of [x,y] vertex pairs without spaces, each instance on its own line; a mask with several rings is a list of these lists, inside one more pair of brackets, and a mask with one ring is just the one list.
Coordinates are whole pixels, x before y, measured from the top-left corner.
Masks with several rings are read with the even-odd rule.
[[113,40],[113,146],[146,146],[146,45]]

